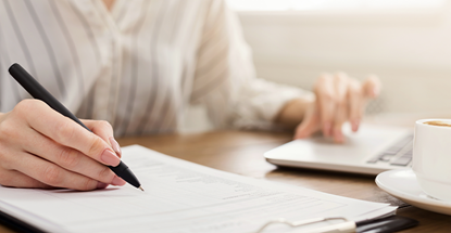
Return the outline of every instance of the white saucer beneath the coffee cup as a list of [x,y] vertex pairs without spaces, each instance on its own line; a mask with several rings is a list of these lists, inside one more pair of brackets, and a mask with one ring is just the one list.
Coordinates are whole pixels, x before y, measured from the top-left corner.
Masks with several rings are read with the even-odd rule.
[[436,199],[423,192],[412,168],[389,170],[376,177],[376,184],[391,194],[422,209],[451,215],[451,203]]

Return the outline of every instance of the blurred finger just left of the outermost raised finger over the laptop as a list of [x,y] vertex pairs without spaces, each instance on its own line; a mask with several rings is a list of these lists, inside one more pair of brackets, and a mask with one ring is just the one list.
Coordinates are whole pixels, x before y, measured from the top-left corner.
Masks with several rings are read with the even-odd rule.
[[348,89],[348,103],[349,103],[349,120],[351,122],[352,131],[359,130],[359,125],[362,119],[364,96],[362,95],[362,87],[355,79],[350,80]]

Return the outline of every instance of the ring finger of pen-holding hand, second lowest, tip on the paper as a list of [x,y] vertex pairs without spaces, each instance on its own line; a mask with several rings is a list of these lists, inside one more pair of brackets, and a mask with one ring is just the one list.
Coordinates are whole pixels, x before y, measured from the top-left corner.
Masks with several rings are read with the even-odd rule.
[[33,177],[47,185],[78,191],[96,190],[98,186],[103,186],[103,183],[97,180],[67,171],[35,155],[23,152],[17,157],[20,158],[15,165],[17,171]]

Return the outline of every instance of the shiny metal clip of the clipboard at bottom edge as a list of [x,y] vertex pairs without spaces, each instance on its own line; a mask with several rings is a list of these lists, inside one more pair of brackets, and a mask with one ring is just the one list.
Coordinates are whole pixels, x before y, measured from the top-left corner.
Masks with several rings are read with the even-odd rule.
[[[287,224],[291,228],[298,228],[298,226],[303,226],[303,225],[313,224],[313,223],[317,223],[317,222],[326,222],[326,221],[330,221],[330,220],[343,220],[344,222],[340,222],[340,223],[336,223],[336,224],[331,224],[331,225],[325,225],[325,226],[311,229],[311,230],[306,230],[306,231],[301,230],[300,232],[308,232],[308,233],[348,233],[348,232],[355,232],[356,225],[355,225],[354,221],[350,221],[350,220],[348,220],[346,218],[342,218],[342,217],[335,217],[335,218],[314,218],[314,219],[301,220],[301,221],[296,221],[296,222],[290,222],[290,221],[287,221],[284,218],[279,218],[279,219],[275,219],[275,220],[266,222],[264,225],[262,225],[262,228],[260,228],[254,233],[264,233],[263,231],[268,225],[276,224],[276,223],[283,223],[283,224]],[[290,233],[293,233],[293,231],[290,231]]]

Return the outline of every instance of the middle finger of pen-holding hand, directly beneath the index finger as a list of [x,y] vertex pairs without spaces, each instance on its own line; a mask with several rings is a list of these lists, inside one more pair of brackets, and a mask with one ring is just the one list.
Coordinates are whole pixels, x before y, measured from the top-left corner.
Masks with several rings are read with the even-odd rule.
[[113,185],[125,184],[125,181],[118,178],[109,167],[74,148],[58,144],[33,129],[29,129],[24,134],[28,143],[25,143],[23,148],[29,154],[37,155],[66,170],[77,172],[102,183]]

